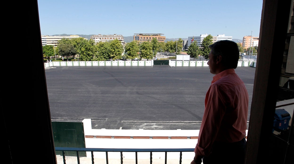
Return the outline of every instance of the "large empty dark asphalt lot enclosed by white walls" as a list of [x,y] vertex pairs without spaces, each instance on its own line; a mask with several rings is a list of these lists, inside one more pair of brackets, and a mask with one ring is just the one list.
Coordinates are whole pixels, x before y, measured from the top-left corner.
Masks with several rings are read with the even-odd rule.
[[[254,67],[235,69],[252,101]],[[58,66],[45,69],[52,121],[92,120],[92,129],[197,130],[209,67]]]

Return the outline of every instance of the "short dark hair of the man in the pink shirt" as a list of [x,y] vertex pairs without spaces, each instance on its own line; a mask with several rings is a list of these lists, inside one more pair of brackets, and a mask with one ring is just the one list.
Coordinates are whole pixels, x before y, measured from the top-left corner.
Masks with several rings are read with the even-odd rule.
[[213,57],[221,56],[223,64],[228,68],[237,68],[239,60],[239,48],[237,43],[230,40],[220,40],[208,48],[212,50]]

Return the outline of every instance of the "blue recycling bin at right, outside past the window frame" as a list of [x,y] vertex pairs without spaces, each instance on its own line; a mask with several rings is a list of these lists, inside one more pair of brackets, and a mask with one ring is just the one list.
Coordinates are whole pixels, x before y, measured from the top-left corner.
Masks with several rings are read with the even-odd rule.
[[289,121],[291,119],[290,114],[285,111],[285,109],[275,110],[275,128],[280,130],[287,130],[289,126]]

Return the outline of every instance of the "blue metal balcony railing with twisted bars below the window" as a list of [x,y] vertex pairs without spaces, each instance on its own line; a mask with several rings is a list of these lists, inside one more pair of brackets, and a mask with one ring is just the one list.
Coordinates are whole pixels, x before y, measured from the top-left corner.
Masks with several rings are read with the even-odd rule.
[[179,163],[182,163],[182,152],[193,152],[194,148],[66,148],[55,147],[56,151],[62,151],[63,163],[66,164],[64,151],[75,151],[77,156],[77,163],[80,164],[79,151],[91,152],[92,164],[94,164],[93,152],[105,152],[106,164],[108,164],[108,152],[120,152],[121,164],[123,164],[123,152],[135,152],[136,164],[138,164],[138,152],[150,152],[150,164],[152,164],[152,152],[165,152],[165,164],[167,163],[167,152],[179,152]]

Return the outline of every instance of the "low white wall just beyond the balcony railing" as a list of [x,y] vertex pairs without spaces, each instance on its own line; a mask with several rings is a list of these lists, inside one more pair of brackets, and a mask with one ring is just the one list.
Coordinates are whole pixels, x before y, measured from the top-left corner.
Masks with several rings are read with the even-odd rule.
[[[123,129],[92,129],[91,119],[83,120],[86,148],[195,148],[199,130],[123,130]],[[246,136],[247,136],[246,130]],[[111,136],[111,138],[99,138]],[[115,136],[118,136],[116,138]],[[127,138],[122,138],[127,136]],[[153,137],[147,139],[135,139],[130,137]],[[170,137],[171,139],[154,139],[157,137]],[[183,137],[185,139],[172,139]],[[195,139],[188,139],[188,138]],[[194,152],[183,152],[182,159],[191,159]],[[87,158],[91,158],[91,152],[86,152]],[[105,152],[94,152],[94,158],[105,158]],[[123,152],[124,159],[135,159],[134,152]],[[179,159],[179,152],[168,153],[167,159]],[[153,159],[165,158],[164,152],[153,152]],[[120,152],[108,152],[109,159],[120,159]],[[139,152],[138,159],[150,159],[149,152]],[[193,158],[192,158],[193,159]]]

